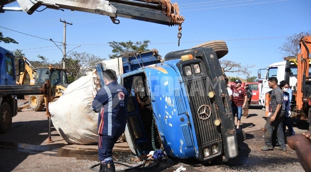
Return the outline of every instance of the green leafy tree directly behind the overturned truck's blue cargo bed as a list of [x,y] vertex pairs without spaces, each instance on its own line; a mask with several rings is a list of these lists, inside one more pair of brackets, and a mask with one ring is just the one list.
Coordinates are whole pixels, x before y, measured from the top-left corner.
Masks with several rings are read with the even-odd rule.
[[147,49],[149,43],[150,43],[149,40],[136,41],[135,43],[132,41],[108,42],[109,46],[113,48],[112,52],[114,53],[114,54],[109,54],[109,58],[117,58],[119,57],[120,53],[123,51],[136,51],[136,52],[149,51],[149,49]]

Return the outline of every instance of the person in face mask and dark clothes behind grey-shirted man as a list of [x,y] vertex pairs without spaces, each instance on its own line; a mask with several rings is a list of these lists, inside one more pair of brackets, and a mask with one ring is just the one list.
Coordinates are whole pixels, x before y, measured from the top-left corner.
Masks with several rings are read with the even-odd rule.
[[285,106],[285,116],[283,118],[283,131],[285,134],[286,126],[288,128],[288,131],[290,132],[290,135],[295,135],[295,131],[293,129],[293,126],[291,125],[289,116],[291,114],[290,112],[290,95],[288,93],[289,85],[286,83],[286,81],[281,81],[279,87],[283,90],[283,106]]

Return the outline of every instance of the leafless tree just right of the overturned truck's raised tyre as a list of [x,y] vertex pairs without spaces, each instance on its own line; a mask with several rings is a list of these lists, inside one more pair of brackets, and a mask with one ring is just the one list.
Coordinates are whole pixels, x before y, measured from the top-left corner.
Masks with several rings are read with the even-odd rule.
[[241,63],[234,62],[232,60],[219,60],[220,66],[224,69],[224,72],[236,72],[238,74],[243,74],[249,76],[255,65],[242,65]]

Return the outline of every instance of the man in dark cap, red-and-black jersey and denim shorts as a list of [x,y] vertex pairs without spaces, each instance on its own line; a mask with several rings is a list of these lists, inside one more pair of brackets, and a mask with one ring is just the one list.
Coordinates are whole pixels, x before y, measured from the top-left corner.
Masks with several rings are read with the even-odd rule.
[[236,128],[239,129],[240,122],[241,122],[241,116],[242,116],[242,109],[245,108],[246,101],[247,101],[247,94],[244,88],[241,87],[242,81],[236,80],[235,85],[229,85],[231,90],[233,91],[233,101],[231,103],[232,105],[232,114],[235,116],[237,114],[237,126]]

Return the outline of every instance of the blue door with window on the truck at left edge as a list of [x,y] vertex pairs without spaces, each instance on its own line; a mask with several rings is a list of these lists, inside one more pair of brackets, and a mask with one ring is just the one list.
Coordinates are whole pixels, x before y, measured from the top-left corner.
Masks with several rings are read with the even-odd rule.
[[15,85],[16,80],[14,78],[15,75],[15,65],[14,58],[11,54],[5,54],[5,79],[3,85]]

